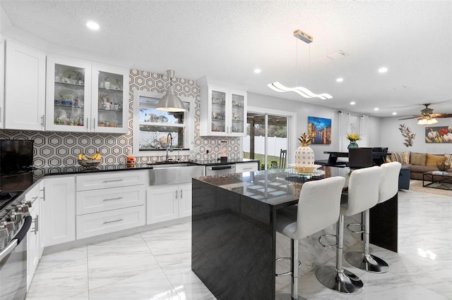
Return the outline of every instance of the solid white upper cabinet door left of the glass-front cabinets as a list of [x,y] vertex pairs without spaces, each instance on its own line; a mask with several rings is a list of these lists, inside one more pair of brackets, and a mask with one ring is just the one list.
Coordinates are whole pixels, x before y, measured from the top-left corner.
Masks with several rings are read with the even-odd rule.
[[45,53],[6,40],[4,128],[44,130]]

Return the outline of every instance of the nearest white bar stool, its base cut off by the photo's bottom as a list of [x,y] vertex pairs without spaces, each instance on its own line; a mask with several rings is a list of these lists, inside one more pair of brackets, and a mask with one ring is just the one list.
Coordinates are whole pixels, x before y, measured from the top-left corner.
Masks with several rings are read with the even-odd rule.
[[298,296],[298,240],[333,225],[339,216],[340,195],[345,184],[344,177],[330,177],[304,182],[297,206],[277,211],[276,231],[290,238],[290,272],[276,276],[292,275],[290,294],[278,294],[277,299],[302,300]]

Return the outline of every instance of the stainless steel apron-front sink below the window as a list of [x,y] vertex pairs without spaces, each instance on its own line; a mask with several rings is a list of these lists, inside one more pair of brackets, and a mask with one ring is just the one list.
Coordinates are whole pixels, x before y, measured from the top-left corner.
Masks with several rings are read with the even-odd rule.
[[156,163],[150,164],[150,185],[180,185],[190,183],[191,178],[204,175],[204,166],[196,163]]

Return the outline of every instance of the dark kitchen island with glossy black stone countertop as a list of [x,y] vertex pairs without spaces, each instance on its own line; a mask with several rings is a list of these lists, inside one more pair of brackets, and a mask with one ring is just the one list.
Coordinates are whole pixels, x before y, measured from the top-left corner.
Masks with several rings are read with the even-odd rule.
[[[305,180],[347,179],[350,173],[323,171],[316,177],[266,170],[193,179],[191,269],[217,299],[275,299],[275,212],[297,203]],[[379,215],[378,222],[396,227],[386,232],[387,226],[371,225],[371,237],[383,237],[389,246],[378,245],[396,251],[397,195],[386,202],[395,211]]]

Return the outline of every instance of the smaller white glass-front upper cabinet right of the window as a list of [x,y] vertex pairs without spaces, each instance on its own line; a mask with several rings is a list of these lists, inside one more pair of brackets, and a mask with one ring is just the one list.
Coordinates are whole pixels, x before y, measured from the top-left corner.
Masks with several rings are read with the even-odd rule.
[[215,85],[201,87],[201,135],[244,137],[246,92]]

